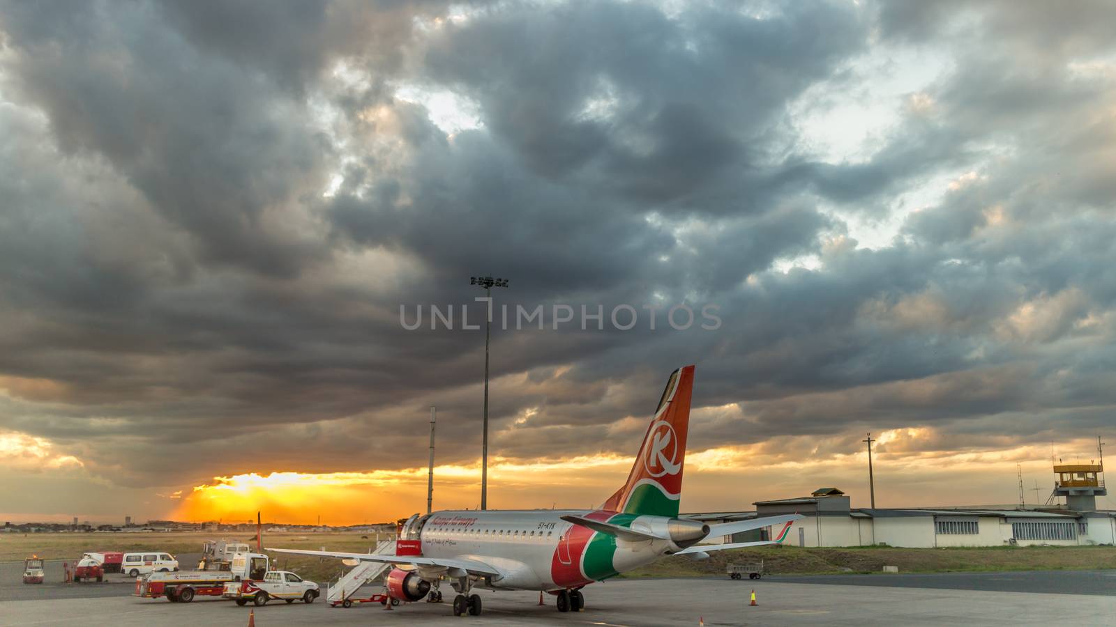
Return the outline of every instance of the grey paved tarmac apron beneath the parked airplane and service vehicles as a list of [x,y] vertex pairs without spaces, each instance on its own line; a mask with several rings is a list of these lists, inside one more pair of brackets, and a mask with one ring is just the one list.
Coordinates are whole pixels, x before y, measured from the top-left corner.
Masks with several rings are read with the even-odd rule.
[[[10,585],[7,577],[3,588]],[[171,604],[140,599],[117,583],[78,588],[85,598],[48,594],[4,600],[0,625],[247,625],[250,607],[220,599]],[[33,586],[26,586],[35,588]],[[995,587],[997,589],[988,589]],[[1004,591],[999,588],[1010,588]],[[749,606],[751,590],[758,606]],[[372,591],[371,588],[366,590]],[[448,590],[449,591],[449,590]],[[104,594],[109,594],[104,596]],[[613,580],[584,589],[586,609],[562,614],[554,598],[538,606],[532,592],[480,590],[483,614],[454,618],[449,602],[405,604],[385,611],[379,604],[331,608],[269,602],[254,608],[259,627],[269,625],[1109,625],[1116,626],[1116,571],[991,572],[945,575],[848,575]],[[446,595],[449,599],[451,595]],[[49,599],[49,602],[44,600]]]

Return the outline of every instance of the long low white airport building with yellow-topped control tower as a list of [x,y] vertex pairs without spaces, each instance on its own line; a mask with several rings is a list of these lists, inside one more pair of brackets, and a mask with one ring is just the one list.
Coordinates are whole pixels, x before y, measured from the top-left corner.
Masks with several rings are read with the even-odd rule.
[[[754,511],[683,514],[709,523],[799,513],[783,543],[797,547],[1001,547],[1116,543],[1116,511],[1096,509],[1107,494],[1100,464],[1056,465],[1058,476],[1045,505],[979,505],[936,509],[853,509],[836,488],[809,496],[758,501]],[[1057,496],[1065,505],[1055,504]],[[775,530],[778,533],[779,530]],[[767,540],[760,529],[706,543]]]

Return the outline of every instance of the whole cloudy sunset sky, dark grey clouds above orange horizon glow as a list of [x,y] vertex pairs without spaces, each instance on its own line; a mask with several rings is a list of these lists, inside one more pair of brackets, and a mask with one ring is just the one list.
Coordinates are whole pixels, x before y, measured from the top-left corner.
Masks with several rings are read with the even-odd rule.
[[1045,501],[1114,199],[1110,2],[0,0],[0,520],[394,520],[431,405],[477,507],[475,274],[548,312],[492,508],[599,505],[684,364],[683,511],[867,507],[867,432],[881,507]]

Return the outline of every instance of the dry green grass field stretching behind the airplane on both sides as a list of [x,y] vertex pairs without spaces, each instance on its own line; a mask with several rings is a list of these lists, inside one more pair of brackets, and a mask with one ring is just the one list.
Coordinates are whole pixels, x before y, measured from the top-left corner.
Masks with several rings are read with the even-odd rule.
[[[21,561],[31,553],[44,559],[74,559],[85,551],[167,551],[199,553],[202,542],[219,538],[210,533],[28,533],[0,534],[0,561]],[[385,536],[386,537],[386,536]],[[225,534],[229,540],[254,544],[251,533]],[[367,552],[376,546],[374,533],[264,533],[263,544],[283,549],[321,549]],[[304,577],[328,581],[348,569],[339,560],[311,557],[272,556],[278,568]],[[901,572],[952,572],[998,570],[1096,570],[1116,568],[1116,547],[981,547],[949,549],[903,549],[857,547],[811,549],[759,547],[712,553],[706,560],[665,558],[623,577],[698,577],[724,573],[725,565],[759,561],[773,575],[819,575],[834,572],[879,572],[897,566]],[[182,568],[194,565],[183,562]]]

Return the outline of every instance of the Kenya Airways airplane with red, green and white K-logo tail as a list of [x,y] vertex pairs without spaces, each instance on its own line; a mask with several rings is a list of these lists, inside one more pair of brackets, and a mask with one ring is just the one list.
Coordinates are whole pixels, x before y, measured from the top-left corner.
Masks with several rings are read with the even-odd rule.
[[[458,592],[453,615],[479,616],[473,588],[554,595],[558,611],[585,607],[581,589],[664,556],[782,542],[799,514],[705,524],[679,518],[694,366],[674,370],[643,437],[627,481],[597,510],[453,510],[414,514],[394,554],[268,549],[279,553],[381,562],[394,568],[387,594],[401,601],[430,595],[442,580]],[[705,538],[783,524],[775,540],[699,544]],[[401,568],[402,567],[402,568]]]

